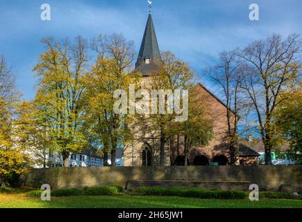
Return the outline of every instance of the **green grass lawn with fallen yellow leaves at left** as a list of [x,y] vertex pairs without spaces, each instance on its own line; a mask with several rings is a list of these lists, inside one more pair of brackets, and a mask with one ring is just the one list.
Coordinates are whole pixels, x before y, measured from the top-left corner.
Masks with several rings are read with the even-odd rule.
[[69,196],[52,197],[51,201],[28,197],[25,194],[0,194],[0,208],[267,208],[267,207],[299,207],[302,200],[263,199],[251,200],[217,200],[199,198],[181,198],[165,196]]

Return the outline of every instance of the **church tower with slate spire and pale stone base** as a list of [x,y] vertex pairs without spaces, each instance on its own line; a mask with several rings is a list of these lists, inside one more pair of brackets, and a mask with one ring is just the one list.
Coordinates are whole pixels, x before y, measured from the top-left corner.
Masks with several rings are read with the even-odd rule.
[[[142,74],[140,85],[143,89],[151,86],[151,74],[156,70],[160,62],[160,49],[153,24],[151,12],[149,12],[140,52],[137,56],[135,69]],[[144,130],[137,124],[133,129],[133,143],[126,143],[124,146],[124,166],[148,167],[160,165],[159,140],[152,138],[152,135],[144,135]],[[170,165],[169,149],[165,149],[165,166]]]

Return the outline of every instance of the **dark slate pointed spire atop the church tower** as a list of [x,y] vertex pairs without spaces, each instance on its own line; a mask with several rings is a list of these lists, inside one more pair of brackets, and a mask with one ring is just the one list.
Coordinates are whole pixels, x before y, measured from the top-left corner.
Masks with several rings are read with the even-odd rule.
[[160,49],[156,38],[156,31],[152,21],[151,11],[149,11],[148,21],[138,53],[135,67],[142,72],[143,76],[148,76],[149,73],[156,68],[156,60],[160,59]]

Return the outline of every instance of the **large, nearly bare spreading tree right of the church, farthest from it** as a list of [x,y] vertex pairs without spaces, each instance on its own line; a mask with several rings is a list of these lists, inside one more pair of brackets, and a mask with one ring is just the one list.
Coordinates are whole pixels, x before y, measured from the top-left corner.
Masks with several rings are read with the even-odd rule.
[[271,35],[258,40],[238,54],[244,62],[240,87],[251,103],[251,115],[256,117],[258,132],[265,145],[265,164],[271,164],[274,148],[274,111],[286,99],[287,90],[301,74],[301,39],[293,34],[283,40]]

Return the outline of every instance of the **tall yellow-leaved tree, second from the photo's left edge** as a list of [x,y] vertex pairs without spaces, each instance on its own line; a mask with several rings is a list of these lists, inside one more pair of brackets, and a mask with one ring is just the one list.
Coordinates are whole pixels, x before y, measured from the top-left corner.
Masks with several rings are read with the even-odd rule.
[[40,55],[34,71],[39,80],[35,105],[46,120],[56,151],[62,154],[64,167],[69,167],[69,153],[81,151],[86,144],[81,131],[81,79],[87,66],[87,44],[77,37],[74,44],[65,40],[44,39],[47,50]]

